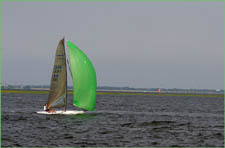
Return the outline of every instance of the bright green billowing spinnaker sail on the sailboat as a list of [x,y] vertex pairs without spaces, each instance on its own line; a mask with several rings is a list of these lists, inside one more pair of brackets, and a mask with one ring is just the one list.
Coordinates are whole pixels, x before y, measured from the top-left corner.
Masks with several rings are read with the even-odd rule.
[[89,58],[72,42],[67,41],[73,79],[73,104],[93,111],[96,104],[96,72]]

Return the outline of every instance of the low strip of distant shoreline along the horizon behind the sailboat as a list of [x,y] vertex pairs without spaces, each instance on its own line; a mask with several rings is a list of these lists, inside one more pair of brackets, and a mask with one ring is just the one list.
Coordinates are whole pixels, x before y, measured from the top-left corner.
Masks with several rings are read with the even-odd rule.
[[[24,89],[4,89],[1,93],[23,93],[23,94],[48,94],[48,90],[24,90]],[[72,94],[72,90],[67,91]],[[98,95],[158,95],[158,96],[198,96],[198,97],[212,97],[223,98],[223,94],[196,94],[196,93],[168,93],[157,91],[131,91],[131,90],[97,90]]]

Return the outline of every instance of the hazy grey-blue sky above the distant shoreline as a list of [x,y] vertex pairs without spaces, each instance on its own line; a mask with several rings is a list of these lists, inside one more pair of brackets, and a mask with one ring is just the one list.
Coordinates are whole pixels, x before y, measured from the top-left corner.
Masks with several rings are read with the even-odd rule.
[[3,85],[49,85],[65,36],[98,86],[224,88],[224,2],[1,4]]

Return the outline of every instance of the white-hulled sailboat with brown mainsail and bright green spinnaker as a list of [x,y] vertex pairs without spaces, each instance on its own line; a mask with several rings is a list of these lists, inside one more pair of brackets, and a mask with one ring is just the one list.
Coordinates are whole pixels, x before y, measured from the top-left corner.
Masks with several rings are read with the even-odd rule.
[[[66,56],[64,38],[59,41],[51,76],[47,106],[49,109],[64,108],[53,113],[38,111],[41,114],[82,114],[93,111],[96,104],[96,72],[90,59],[71,41],[67,41]],[[67,65],[73,80],[73,105],[81,110],[67,110]]]

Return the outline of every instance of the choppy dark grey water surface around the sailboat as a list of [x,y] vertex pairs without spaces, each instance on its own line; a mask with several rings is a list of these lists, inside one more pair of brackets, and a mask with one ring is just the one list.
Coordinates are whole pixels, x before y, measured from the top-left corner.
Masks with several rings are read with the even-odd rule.
[[37,114],[46,100],[2,94],[2,146],[224,146],[223,98],[98,95],[94,112]]

